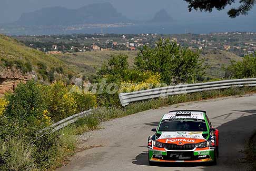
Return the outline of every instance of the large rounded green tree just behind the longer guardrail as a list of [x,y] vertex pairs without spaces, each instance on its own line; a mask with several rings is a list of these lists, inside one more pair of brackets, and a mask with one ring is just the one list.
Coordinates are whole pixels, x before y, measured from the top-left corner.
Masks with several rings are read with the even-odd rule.
[[[160,39],[155,48],[144,46],[134,64],[141,71],[160,73],[166,84],[194,82],[205,74],[199,53],[182,48],[169,39]],[[173,79],[174,78],[174,79]]]

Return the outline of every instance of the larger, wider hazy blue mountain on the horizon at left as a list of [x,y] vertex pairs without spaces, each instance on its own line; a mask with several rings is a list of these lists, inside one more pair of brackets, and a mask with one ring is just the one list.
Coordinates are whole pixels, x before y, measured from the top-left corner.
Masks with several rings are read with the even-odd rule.
[[99,3],[87,5],[79,9],[67,9],[64,7],[42,8],[35,12],[23,13],[15,24],[52,26],[121,22],[129,22],[129,19],[118,13],[110,3]]

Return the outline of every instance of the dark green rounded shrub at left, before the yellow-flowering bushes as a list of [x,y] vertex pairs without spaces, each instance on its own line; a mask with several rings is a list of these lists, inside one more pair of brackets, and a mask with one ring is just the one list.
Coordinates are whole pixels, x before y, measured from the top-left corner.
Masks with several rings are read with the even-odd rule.
[[32,135],[47,126],[44,110],[46,109],[42,89],[34,81],[20,83],[13,94],[7,97],[9,101],[4,115],[12,123],[14,135]]

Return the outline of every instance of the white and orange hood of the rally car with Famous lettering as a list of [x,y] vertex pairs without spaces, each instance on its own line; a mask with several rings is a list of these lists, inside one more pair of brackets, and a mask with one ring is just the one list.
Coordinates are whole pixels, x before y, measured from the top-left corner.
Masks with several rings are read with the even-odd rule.
[[161,136],[156,140],[161,143],[172,144],[191,144],[205,142],[203,132],[162,132]]

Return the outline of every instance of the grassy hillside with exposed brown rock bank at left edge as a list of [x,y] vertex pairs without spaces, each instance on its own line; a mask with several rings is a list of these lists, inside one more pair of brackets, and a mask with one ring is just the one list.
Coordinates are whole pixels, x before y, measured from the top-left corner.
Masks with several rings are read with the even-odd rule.
[[48,83],[73,74],[60,60],[0,34],[0,94],[28,79]]

